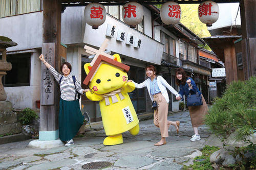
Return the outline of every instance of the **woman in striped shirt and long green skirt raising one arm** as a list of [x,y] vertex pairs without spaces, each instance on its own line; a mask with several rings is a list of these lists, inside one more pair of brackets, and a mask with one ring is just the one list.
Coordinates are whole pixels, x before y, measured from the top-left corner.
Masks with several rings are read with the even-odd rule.
[[82,89],[78,78],[70,75],[72,71],[71,64],[64,62],[60,66],[63,75],[59,74],[45,59],[40,55],[39,59],[51,71],[56,81],[60,84],[60,102],[59,102],[59,138],[67,141],[65,146],[74,144],[73,138],[83,125],[78,93],[84,94],[90,89]]

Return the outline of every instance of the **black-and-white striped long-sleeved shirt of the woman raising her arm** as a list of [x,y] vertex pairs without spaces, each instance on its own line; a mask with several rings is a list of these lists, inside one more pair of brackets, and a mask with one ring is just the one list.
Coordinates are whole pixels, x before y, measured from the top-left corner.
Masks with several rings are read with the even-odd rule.
[[[73,82],[72,75],[69,75],[67,77],[59,74],[52,66],[49,68],[51,73],[53,74],[56,81],[59,83],[59,79],[61,79],[60,82],[60,98],[65,101],[74,101],[76,90],[83,94],[83,89],[81,87],[81,83],[79,82],[78,78],[76,77],[76,87]],[[76,95],[76,100],[78,99],[78,95]]]

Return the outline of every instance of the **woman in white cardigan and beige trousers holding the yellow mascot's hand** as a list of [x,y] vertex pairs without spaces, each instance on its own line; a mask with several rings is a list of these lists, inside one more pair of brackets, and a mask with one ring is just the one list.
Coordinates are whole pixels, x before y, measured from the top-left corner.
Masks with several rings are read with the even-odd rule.
[[154,145],[159,146],[166,144],[165,138],[168,137],[168,128],[170,125],[176,127],[177,133],[179,133],[180,126],[179,121],[172,122],[167,120],[169,98],[166,87],[170,92],[175,94],[176,97],[179,96],[179,93],[170,86],[163,77],[156,76],[156,68],[153,65],[146,67],[146,76],[148,79],[140,84],[137,84],[132,80],[128,80],[127,82],[132,81],[136,88],[147,87],[151,100],[157,102],[157,109],[154,111],[154,125],[160,128],[161,140]]

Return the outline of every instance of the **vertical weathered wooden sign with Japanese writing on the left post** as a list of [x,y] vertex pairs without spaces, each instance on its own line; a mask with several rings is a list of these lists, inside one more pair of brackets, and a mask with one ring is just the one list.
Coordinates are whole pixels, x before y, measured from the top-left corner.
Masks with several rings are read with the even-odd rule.
[[[55,43],[42,43],[42,54],[50,65],[55,65]],[[54,104],[54,77],[50,70],[41,64],[41,105]]]

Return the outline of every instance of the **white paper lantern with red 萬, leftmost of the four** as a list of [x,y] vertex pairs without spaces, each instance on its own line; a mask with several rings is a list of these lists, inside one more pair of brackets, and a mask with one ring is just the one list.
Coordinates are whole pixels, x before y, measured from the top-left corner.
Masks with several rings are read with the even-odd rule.
[[84,9],[84,19],[93,29],[98,29],[106,20],[105,7],[98,3],[87,5]]

